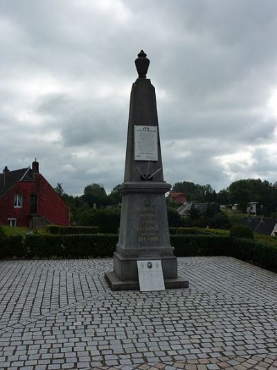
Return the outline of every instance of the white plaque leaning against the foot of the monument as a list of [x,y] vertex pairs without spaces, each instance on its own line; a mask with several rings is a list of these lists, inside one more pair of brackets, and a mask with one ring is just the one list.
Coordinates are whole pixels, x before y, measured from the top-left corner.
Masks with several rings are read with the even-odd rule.
[[163,267],[160,260],[136,261],[139,273],[139,289],[141,292],[165,290]]

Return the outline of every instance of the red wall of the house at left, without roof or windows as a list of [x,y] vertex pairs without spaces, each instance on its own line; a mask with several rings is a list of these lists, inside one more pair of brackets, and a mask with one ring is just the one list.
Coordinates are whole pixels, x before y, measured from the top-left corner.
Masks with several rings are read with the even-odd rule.
[[[14,208],[15,194],[22,194],[22,208]],[[69,206],[41,174],[34,181],[21,181],[0,199],[0,224],[7,225],[8,218],[17,219],[17,226],[29,226],[30,194],[37,194],[37,214],[51,224],[69,225]]]

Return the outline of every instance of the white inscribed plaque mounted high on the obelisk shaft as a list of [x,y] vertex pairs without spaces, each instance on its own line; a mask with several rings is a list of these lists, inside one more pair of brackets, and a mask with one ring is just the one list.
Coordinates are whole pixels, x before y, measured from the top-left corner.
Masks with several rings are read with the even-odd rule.
[[134,160],[158,160],[157,126],[134,126]]

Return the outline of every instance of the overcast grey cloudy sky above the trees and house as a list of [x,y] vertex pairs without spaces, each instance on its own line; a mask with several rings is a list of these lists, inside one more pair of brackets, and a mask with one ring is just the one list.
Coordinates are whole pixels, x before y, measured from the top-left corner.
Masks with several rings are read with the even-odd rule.
[[1,167],[55,187],[123,182],[143,49],[165,180],[277,180],[276,0],[1,0]]

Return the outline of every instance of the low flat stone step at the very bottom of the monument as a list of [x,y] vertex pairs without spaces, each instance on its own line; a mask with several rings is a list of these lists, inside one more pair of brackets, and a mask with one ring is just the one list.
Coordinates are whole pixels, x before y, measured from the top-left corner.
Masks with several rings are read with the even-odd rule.
[[[105,272],[105,279],[111,290],[139,290],[139,281],[120,280],[114,271]],[[165,279],[166,289],[188,288],[188,281],[184,278]]]

